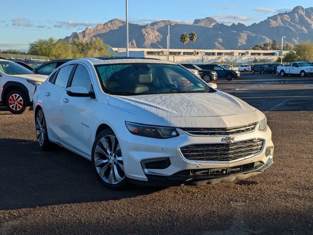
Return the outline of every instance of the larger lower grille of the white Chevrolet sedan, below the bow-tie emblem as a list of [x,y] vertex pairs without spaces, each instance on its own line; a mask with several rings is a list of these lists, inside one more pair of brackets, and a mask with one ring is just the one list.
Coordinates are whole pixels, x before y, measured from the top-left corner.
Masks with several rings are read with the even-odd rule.
[[184,158],[197,161],[233,161],[261,152],[264,140],[192,144],[179,148]]

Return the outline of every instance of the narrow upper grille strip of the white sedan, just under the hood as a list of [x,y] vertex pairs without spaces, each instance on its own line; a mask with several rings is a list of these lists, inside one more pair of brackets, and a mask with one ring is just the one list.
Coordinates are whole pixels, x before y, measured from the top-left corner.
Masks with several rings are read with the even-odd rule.
[[234,134],[243,134],[254,130],[257,122],[248,125],[227,127],[227,128],[180,128],[191,135],[197,136],[227,136]]

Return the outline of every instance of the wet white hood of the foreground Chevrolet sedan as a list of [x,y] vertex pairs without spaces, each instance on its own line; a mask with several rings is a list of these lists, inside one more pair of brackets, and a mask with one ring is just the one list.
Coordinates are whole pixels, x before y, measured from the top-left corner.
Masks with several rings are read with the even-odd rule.
[[220,91],[189,94],[109,96],[110,105],[136,116],[221,117],[254,112],[243,100]]

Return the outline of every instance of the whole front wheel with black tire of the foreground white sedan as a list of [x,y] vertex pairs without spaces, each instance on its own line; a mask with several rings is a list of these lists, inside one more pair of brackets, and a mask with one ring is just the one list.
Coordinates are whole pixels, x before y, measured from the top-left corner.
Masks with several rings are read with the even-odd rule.
[[[115,138],[114,143],[113,141],[110,141],[112,140],[112,137]],[[105,141],[105,144],[103,144],[103,140]],[[125,175],[122,153],[119,148],[119,143],[118,141],[116,143],[116,141],[116,135],[111,129],[106,129],[100,132],[92,146],[91,164],[93,171],[96,174],[96,177],[104,186],[113,190],[123,190],[130,188],[131,184],[129,183],[129,179]],[[108,152],[110,152],[110,154]],[[115,170],[118,177],[122,179],[119,182]],[[110,180],[111,174],[112,177]],[[110,181],[112,181],[112,183],[109,183]],[[115,181],[117,183],[115,183]]]

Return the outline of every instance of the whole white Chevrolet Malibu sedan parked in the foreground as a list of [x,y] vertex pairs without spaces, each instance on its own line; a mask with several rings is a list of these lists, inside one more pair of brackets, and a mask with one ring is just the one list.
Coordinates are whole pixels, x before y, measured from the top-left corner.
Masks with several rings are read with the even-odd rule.
[[170,61],[72,60],[37,88],[34,110],[39,147],[90,160],[109,188],[233,181],[272,164],[265,115]]

